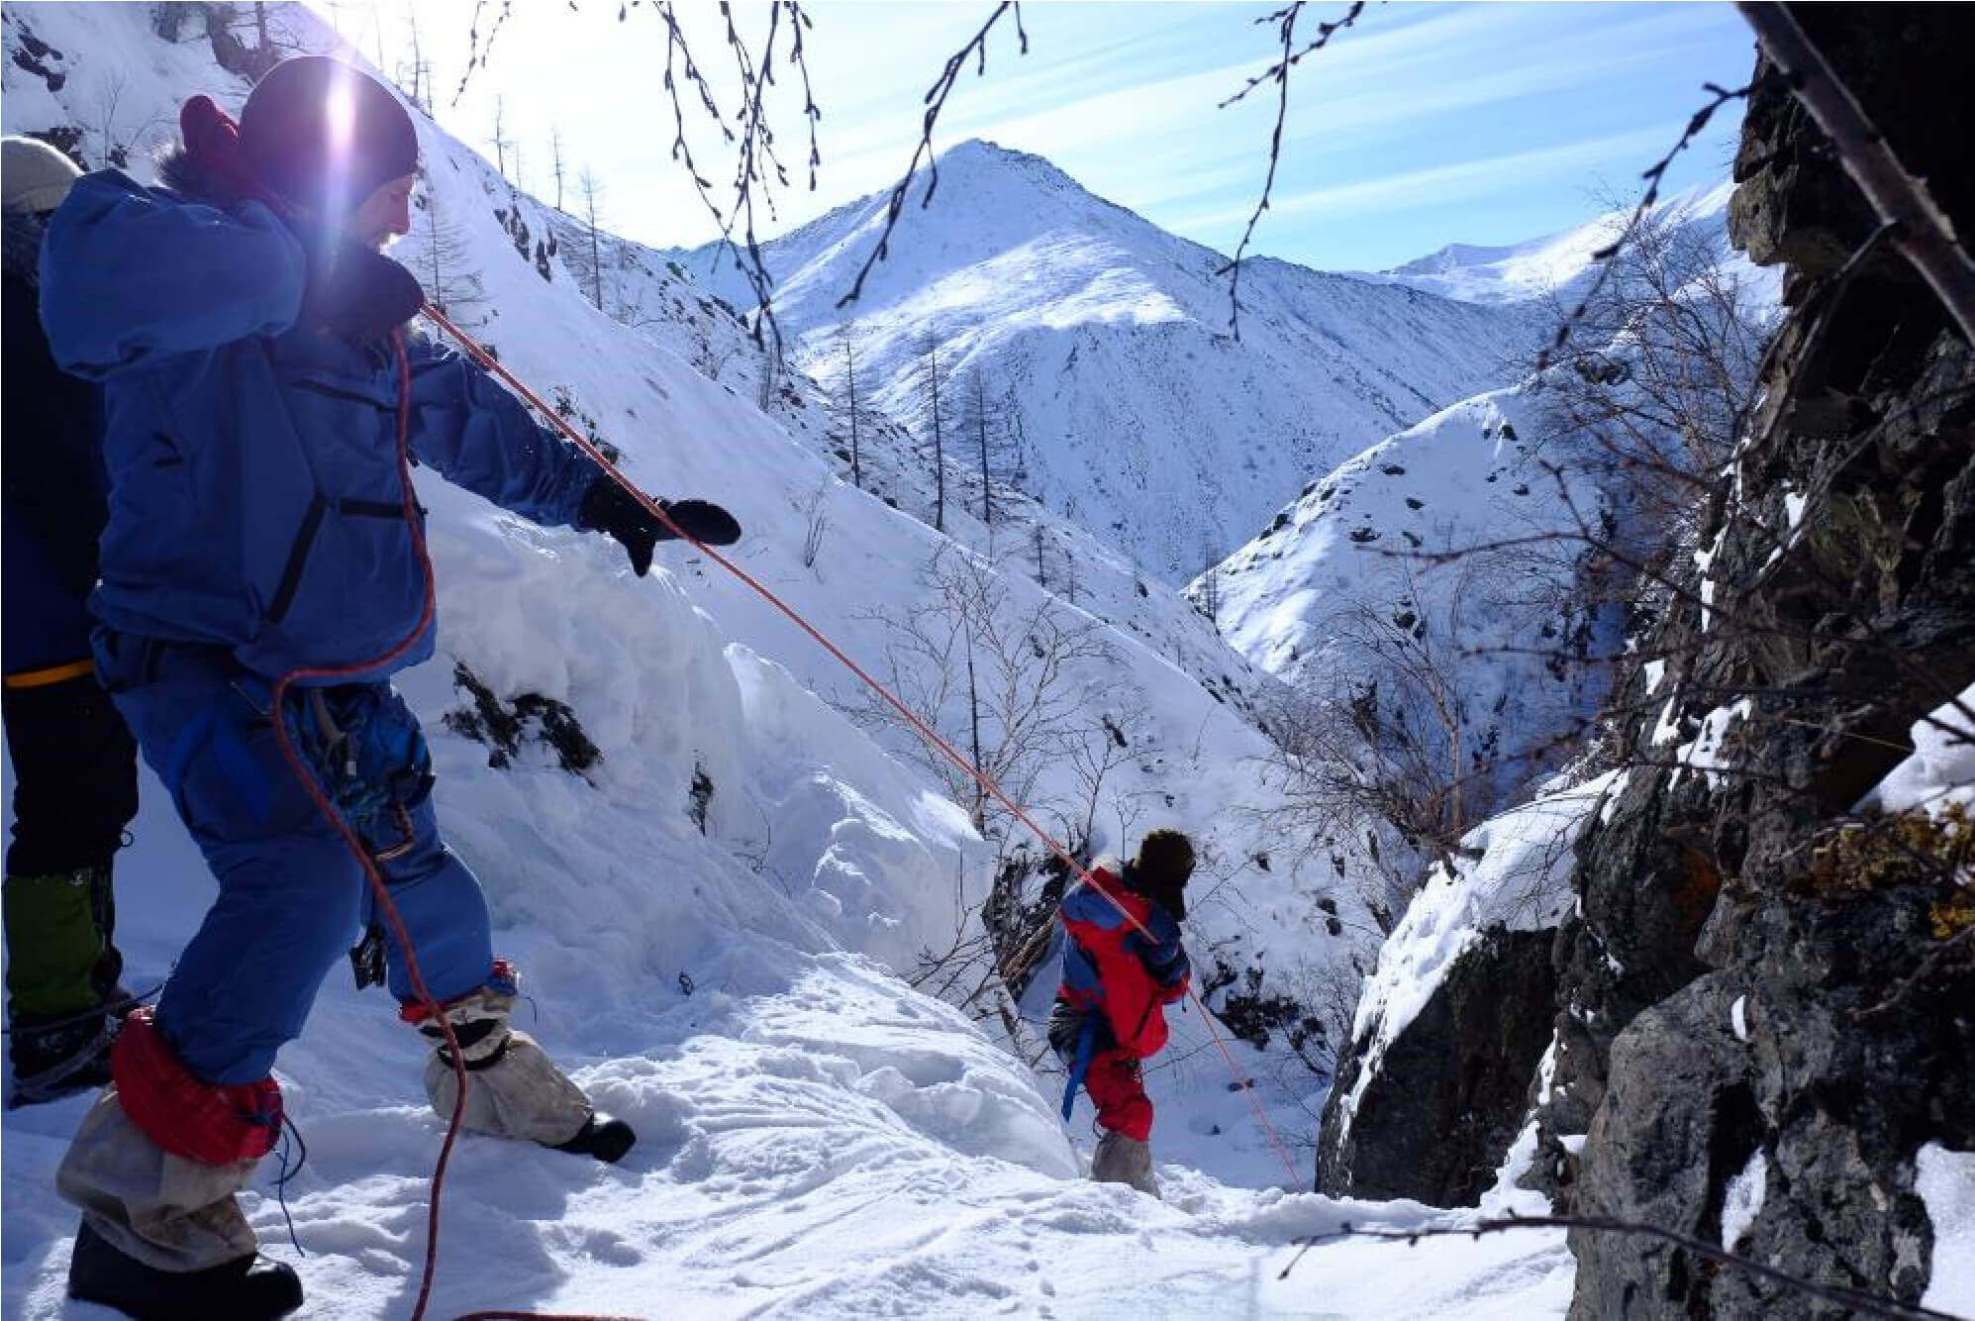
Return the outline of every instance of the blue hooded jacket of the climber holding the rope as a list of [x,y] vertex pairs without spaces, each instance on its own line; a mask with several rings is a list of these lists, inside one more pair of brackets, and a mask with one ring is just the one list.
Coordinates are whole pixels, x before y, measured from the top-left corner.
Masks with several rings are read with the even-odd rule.
[[[41,247],[55,361],[103,381],[109,525],[91,608],[118,632],[221,644],[247,669],[365,661],[423,608],[387,344],[300,326],[306,259],[259,201],[89,174]],[[594,464],[468,359],[415,340],[419,462],[543,525]],[[431,630],[395,663],[433,654]],[[348,681],[342,677],[338,681]]]

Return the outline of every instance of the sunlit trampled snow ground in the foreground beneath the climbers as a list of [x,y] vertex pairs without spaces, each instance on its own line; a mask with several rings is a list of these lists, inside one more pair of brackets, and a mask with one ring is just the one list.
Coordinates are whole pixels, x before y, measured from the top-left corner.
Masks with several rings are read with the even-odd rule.
[[[150,865],[122,894],[126,930],[144,932],[132,973],[148,983],[207,883],[164,821],[140,829]],[[683,889],[666,871],[648,885]],[[488,867],[482,875],[494,879]],[[713,877],[695,881],[711,889]],[[176,926],[162,920],[174,912]],[[579,916],[594,910],[563,922]],[[514,946],[517,928],[508,936]],[[1080,1181],[1053,1104],[1021,1064],[950,1007],[853,956],[800,954],[729,928],[687,960],[693,995],[654,970],[646,1005],[602,1009],[563,995],[567,973],[543,970],[541,946],[519,952],[557,987],[531,1031],[579,1064],[583,1084],[642,1141],[604,1169],[464,1139],[433,1315],[1507,1321],[1560,1315],[1568,1299],[1572,1262],[1546,1232],[1325,1244],[1278,1280],[1302,1236],[1446,1212],[1230,1187],[1177,1163],[1191,1143],[1165,1129],[1163,1204]],[[273,1159],[245,1204],[267,1252],[300,1270],[306,1315],[401,1317],[411,1305],[440,1137],[419,1098],[419,1056],[379,997],[340,975],[282,1056],[308,1139],[308,1165],[288,1189],[308,1256],[288,1244]],[[49,1183],[81,1108],[6,1120],[8,1317],[109,1315],[61,1299],[73,1212]]]

